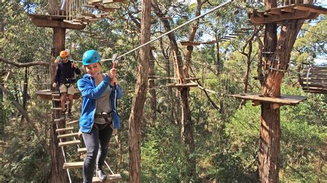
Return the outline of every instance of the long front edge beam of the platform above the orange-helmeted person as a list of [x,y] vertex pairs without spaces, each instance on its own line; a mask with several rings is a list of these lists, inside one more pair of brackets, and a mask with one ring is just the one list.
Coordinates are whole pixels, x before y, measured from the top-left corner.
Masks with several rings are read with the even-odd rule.
[[66,29],[82,30],[86,27],[86,25],[77,25],[77,24],[71,24],[63,21],[49,21],[43,19],[32,19],[32,23],[37,27],[42,27],[42,28],[66,28]]

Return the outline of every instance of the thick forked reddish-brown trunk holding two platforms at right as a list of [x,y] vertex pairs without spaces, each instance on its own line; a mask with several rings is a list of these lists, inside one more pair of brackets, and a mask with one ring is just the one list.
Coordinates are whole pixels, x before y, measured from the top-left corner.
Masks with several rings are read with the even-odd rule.
[[[266,1],[266,9],[275,8],[276,1]],[[297,34],[304,20],[286,21],[281,26],[281,34],[277,42],[277,25],[266,24],[264,36],[264,51],[275,52],[265,55],[266,80],[262,87],[264,96],[279,97],[281,95],[281,80],[283,71],[287,70],[290,52],[293,49]],[[261,104],[261,127],[259,149],[259,180],[260,182],[279,182],[279,154],[280,154],[280,114],[279,108],[272,109],[270,103]]]

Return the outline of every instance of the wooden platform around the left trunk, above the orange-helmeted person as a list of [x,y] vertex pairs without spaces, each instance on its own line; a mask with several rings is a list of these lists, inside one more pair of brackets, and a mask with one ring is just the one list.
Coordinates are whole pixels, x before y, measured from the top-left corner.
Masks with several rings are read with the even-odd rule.
[[72,24],[64,22],[66,16],[63,15],[46,15],[46,14],[28,14],[34,25],[42,28],[66,28],[82,30],[86,28],[86,25]]

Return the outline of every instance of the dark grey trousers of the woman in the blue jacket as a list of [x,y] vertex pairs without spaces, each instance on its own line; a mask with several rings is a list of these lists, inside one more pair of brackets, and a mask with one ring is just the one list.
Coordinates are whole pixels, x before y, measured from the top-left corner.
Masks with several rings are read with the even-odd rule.
[[112,136],[110,125],[93,126],[90,133],[83,133],[86,145],[86,159],[83,164],[83,182],[92,182],[95,163],[101,169],[108,154],[108,146]]

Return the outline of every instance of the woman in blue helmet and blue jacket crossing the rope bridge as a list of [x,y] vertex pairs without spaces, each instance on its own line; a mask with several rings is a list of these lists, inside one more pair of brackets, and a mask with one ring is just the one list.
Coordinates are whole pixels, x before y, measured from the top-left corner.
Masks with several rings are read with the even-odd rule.
[[121,88],[116,85],[116,69],[101,74],[100,55],[95,50],[83,54],[83,65],[87,74],[77,81],[83,96],[79,131],[86,145],[83,163],[83,182],[92,182],[95,164],[97,176],[106,180],[103,165],[107,157],[109,141],[114,129],[120,128],[115,98],[121,98]]

